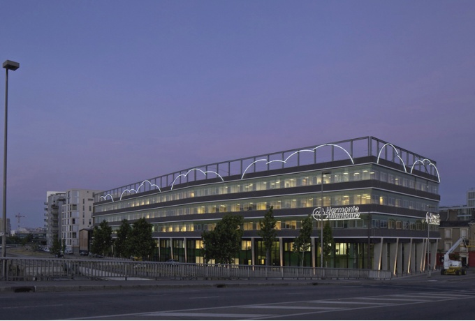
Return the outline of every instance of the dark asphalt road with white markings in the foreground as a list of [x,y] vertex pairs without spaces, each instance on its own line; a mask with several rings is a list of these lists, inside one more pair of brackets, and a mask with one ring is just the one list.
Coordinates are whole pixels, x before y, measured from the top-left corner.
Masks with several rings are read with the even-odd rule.
[[328,285],[2,292],[2,320],[472,320],[475,276]]

